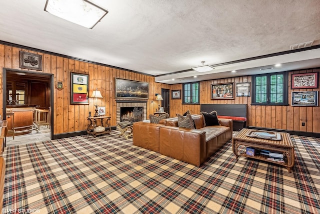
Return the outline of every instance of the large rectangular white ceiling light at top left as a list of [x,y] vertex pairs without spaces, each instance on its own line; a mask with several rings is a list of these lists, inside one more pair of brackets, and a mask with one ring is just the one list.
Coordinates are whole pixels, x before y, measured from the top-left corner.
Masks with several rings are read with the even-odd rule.
[[87,0],[46,0],[44,11],[89,29],[108,13]]

